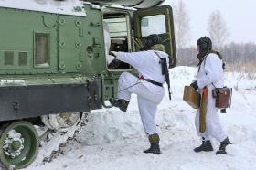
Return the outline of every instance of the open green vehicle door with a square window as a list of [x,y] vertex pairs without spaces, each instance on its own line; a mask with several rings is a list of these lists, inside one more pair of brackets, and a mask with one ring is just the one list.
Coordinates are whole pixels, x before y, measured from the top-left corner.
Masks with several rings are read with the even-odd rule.
[[158,34],[166,53],[169,54],[169,68],[176,66],[176,42],[173,11],[171,6],[162,5],[133,13],[133,31],[136,51],[144,46],[145,37]]

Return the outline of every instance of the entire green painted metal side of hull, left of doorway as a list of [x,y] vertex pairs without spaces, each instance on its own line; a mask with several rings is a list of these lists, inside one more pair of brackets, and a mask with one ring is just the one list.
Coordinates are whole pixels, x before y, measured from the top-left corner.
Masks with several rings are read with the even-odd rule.
[[[0,7],[0,74],[100,73],[105,69],[101,10],[85,8],[88,16]],[[45,51],[37,52],[43,45]],[[42,53],[44,59],[38,57]]]

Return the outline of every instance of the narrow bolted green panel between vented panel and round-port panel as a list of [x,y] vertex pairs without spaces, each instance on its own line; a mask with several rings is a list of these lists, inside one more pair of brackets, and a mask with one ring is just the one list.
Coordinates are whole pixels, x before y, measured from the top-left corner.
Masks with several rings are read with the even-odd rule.
[[83,18],[59,16],[59,71],[79,72],[82,67]]

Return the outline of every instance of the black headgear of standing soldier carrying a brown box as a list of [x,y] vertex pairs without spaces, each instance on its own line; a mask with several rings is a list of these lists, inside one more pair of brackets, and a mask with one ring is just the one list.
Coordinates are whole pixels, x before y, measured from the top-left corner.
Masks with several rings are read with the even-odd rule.
[[211,51],[212,43],[209,37],[200,37],[197,40],[197,46],[199,48],[199,53],[197,54],[197,58],[201,61],[209,51]]

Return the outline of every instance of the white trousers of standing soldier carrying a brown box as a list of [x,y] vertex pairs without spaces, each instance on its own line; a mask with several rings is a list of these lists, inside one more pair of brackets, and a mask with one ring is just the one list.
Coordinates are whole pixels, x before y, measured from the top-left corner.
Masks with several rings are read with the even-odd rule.
[[223,132],[221,124],[219,122],[218,108],[215,107],[216,100],[212,97],[211,91],[213,90],[212,85],[208,87],[208,106],[206,113],[206,131],[204,133],[199,132],[199,117],[200,112],[197,110],[195,125],[198,136],[203,136],[207,140],[210,137],[217,139],[219,142],[223,141],[227,135]]

